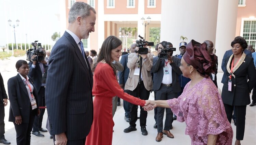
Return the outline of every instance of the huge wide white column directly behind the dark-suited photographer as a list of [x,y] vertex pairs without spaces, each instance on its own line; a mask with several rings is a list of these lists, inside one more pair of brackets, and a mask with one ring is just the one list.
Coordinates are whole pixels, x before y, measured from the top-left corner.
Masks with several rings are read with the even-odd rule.
[[215,43],[217,10],[218,0],[162,0],[160,42],[171,42],[176,47],[173,55],[180,54],[181,35],[187,42]]

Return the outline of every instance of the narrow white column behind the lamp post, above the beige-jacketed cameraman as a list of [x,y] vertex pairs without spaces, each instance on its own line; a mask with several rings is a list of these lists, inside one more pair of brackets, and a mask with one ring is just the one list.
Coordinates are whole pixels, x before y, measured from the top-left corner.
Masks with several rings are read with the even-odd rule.
[[[145,2],[144,0],[138,0],[138,36],[141,35],[144,37],[145,35],[145,26],[141,23],[141,18],[144,17],[145,21],[147,17],[145,16]],[[136,36],[137,39],[140,39],[138,36]]]

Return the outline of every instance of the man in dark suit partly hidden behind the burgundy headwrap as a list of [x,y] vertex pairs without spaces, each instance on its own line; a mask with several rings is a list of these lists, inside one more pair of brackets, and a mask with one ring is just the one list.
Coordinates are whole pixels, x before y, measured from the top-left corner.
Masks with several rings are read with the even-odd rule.
[[[215,57],[216,55],[213,53],[213,42],[210,40],[205,40],[204,41],[207,44],[207,52],[210,54],[211,57]],[[216,70],[215,70],[215,74],[211,74],[210,78],[212,79],[213,83],[215,84],[215,86],[218,88],[218,84],[217,84],[217,73],[218,73],[218,57],[217,58],[217,62],[216,62]]]

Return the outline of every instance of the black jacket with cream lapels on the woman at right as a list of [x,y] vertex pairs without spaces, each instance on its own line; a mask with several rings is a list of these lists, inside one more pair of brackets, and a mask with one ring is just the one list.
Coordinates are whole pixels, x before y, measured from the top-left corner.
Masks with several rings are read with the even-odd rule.
[[[226,57],[225,66],[227,66],[228,60],[229,57]],[[232,91],[228,91],[228,80],[230,74],[225,67],[225,72],[223,75],[225,75],[226,79],[223,83],[221,95],[223,103],[236,106],[244,106],[250,104],[251,101],[249,93],[253,89],[256,82],[256,70],[253,64],[253,58],[245,56],[243,63],[233,74],[236,77],[231,77]],[[246,76],[248,76],[248,82]]]

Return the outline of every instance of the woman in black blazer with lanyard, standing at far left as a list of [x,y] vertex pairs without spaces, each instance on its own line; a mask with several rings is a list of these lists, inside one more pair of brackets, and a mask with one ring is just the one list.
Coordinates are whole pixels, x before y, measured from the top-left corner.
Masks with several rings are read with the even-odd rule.
[[40,113],[37,106],[37,90],[31,78],[27,76],[27,61],[18,60],[16,69],[18,74],[8,80],[9,121],[14,124],[17,145],[30,145],[34,118]]

